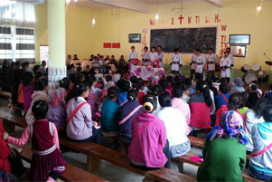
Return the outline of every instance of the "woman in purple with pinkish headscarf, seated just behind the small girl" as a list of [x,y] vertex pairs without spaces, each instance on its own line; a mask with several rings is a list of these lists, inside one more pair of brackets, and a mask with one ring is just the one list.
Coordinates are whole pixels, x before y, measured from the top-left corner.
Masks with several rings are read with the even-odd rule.
[[66,91],[63,88],[50,92],[50,101],[48,103],[47,119],[56,125],[58,131],[66,129]]

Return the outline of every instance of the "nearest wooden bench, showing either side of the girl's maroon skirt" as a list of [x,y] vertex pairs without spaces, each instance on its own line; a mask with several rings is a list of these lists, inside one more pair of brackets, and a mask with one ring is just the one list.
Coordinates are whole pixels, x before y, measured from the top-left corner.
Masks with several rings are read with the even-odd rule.
[[[33,152],[29,145],[24,145],[23,150],[20,153],[23,160],[31,163]],[[61,174],[60,179],[63,181],[101,181],[105,182],[107,180],[100,177],[94,176],[85,170],[71,166],[70,164],[65,165],[65,172]]]

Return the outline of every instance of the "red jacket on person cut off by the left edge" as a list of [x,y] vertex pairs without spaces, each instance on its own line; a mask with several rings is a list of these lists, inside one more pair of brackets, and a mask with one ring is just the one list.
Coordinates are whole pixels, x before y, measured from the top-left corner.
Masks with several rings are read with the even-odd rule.
[[11,152],[11,148],[8,146],[7,141],[2,139],[2,133],[5,133],[5,129],[3,128],[3,122],[0,120],[0,170],[5,170],[7,173],[11,173],[11,165],[7,159]]

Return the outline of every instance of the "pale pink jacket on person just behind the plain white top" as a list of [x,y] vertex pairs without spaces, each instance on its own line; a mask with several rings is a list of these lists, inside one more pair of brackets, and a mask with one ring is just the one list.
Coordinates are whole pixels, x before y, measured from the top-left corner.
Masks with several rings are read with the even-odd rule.
[[191,110],[188,103],[183,101],[183,99],[181,98],[173,98],[171,103],[172,108],[180,110],[183,113],[183,116],[187,123],[185,135],[189,135],[189,133],[192,131],[192,128],[188,126],[191,123]]

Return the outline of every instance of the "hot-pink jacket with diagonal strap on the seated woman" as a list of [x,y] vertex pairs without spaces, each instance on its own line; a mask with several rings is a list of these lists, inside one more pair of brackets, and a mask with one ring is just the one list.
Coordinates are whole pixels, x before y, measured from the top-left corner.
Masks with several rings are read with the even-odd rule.
[[[149,121],[153,122],[145,128]],[[128,148],[128,157],[137,163],[144,163],[148,168],[163,168],[167,162],[163,152],[167,139],[164,121],[152,113],[143,112],[134,117],[131,129],[133,139]],[[143,130],[136,135],[140,129]]]

